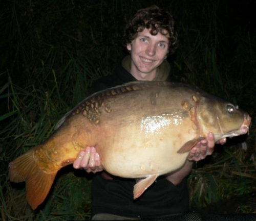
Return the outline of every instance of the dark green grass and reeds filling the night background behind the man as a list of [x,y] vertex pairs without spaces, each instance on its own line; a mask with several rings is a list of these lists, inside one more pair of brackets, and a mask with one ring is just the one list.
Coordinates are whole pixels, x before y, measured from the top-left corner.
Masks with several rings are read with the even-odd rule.
[[[92,82],[113,72],[124,55],[127,19],[153,4],[172,11],[179,27],[180,48],[169,58],[174,79],[196,84],[255,116],[256,35],[253,19],[246,20],[253,1],[5,1],[0,19],[2,220],[90,216],[91,178],[84,171],[63,168],[47,200],[33,211],[24,183],[9,182],[8,163],[49,137]],[[253,121],[246,140],[216,146],[212,157],[197,164],[188,183],[191,208],[256,191],[255,132]],[[256,212],[255,204],[248,200],[233,212]]]

